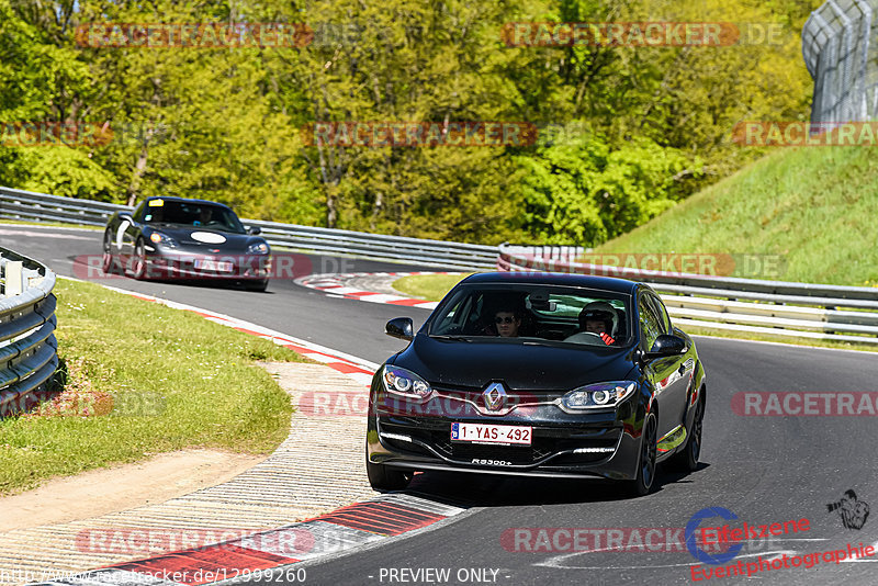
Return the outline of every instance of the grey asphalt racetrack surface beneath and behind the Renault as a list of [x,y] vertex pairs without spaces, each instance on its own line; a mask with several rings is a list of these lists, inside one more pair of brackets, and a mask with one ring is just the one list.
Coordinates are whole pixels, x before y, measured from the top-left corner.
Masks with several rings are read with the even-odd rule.
[[[0,226],[0,246],[37,258],[63,275],[76,275],[74,260],[82,255],[100,255],[101,248],[100,233],[9,225]],[[365,260],[307,258],[314,273],[429,270]],[[232,315],[378,363],[401,349],[398,340],[383,334],[387,319],[407,315],[417,327],[428,315],[425,309],[327,296],[299,286],[292,279],[272,281],[264,294],[131,279],[113,279],[106,284]],[[847,489],[856,491],[862,502],[878,506],[874,455],[878,427],[874,417],[744,417],[731,408],[732,396],[740,392],[876,392],[875,354],[700,337],[697,345],[708,373],[708,407],[702,464],[695,473],[680,476],[665,472],[660,475],[654,494],[635,499],[623,498],[617,486],[596,481],[426,473],[418,476],[413,491],[437,498],[465,496],[473,503],[474,514],[436,530],[315,561],[306,566],[306,582],[691,583],[690,565],[696,560],[687,551],[571,552],[566,536],[572,533],[556,529],[593,530],[581,532],[593,536],[586,540],[588,548],[583,549],[600,549],[607,545],[606,530],[621,530],[629,536],[634,528],[639,529],[634,533],[643,537],[650,528],[660,528],[667,534],[667,529],[685,527],[706,507],[727,508],[750,525],[802,518],[810,521],[808,531],[745,544],[723,566],[739,560],[757,562],[759,556],[768,560],[785,553],[846,549],[848,543],[862,542],[878,549],[878,518],[868,517],[862,529],[847,529],[837,511],[828,510],[828,504],[838,502]],[[528,533],[517,534],[532,539],[516,542],[510,538],[516,528],[529,529]],[[547,531],[540,533],[539,528]],[[548,543],[539,538],[541,534],[549,537]],[[605,539],[598,548],[592,548],[594,536]],[[515,551],[516,544],[537,551]],[[810,568],[763,571],[750,579],[769,584],[873,584],[876,561],[878,555],[837,564],[824,557]],[[705,567],[698,565],[699,570]],[[434,574],[431,568],[447,570],[448,574]],[[429,574],[425,573],[427,570]],[[696,577],[707,582],[702,574]],[[709,582],[738,584],[743,579],[713,577]]]

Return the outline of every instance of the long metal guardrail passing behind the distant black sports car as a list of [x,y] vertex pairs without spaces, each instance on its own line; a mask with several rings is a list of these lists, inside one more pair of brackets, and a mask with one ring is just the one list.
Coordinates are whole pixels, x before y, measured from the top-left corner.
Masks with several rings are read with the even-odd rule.
[[[132,207],[0,188],[0,217],[11,219],[103,226],[116,211],[132,211]],[[491,269],[497,261],[497,247],[494,246],[384,236],[258,219],[243,222],[248,226],[259,226],[271,246],[317,253],[351,255],[457,269]]]

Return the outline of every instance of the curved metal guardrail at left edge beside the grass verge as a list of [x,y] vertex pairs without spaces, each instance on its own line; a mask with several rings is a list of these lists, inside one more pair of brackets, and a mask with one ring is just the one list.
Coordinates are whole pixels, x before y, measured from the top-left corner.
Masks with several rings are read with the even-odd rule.
[[22,410],[58,368],[55,273],[0,248],[0,417]]

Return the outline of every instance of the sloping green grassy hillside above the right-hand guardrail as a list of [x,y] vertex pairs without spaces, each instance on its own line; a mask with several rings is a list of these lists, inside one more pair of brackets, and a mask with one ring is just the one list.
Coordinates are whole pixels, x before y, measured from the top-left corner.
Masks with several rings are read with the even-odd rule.
[[780,280],[878,286],[878,153],[778,149],[595,252],[780,255]]

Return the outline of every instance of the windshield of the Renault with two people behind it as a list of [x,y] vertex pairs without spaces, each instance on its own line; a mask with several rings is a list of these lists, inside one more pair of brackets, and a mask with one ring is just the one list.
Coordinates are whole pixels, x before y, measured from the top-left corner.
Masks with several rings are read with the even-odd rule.
[[464,285],[431,317],[429,335],[621,347],[631,338],[630,300],[573,286]]

